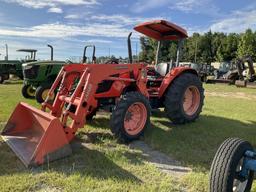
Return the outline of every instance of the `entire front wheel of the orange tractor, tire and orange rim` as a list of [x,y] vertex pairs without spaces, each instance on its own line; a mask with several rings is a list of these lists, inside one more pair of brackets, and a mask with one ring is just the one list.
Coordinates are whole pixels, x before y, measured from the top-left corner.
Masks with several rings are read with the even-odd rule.
[[110,117],[112,133],[124,143],[139,139],[150,126],[150,111],[144,95],[134,91],[125,93]]

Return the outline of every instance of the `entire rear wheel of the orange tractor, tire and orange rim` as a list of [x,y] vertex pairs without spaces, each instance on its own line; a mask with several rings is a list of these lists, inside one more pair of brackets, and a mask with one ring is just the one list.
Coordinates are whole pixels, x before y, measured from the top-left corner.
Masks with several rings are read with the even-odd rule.
[[204,89],[196,74],[183,73],[169,86],[164,98],[165,112],[174,124],[195,121],[204,104]]

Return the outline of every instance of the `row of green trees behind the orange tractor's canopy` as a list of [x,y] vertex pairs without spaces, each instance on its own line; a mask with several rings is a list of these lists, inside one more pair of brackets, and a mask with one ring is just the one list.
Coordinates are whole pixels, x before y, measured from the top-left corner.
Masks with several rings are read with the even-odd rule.
[[[157,41],[141,37],[142,61],[152,62],[155,59]],[[162,42],[159,60],[175,61],[177,41]],[[251,56],[256,61],[256,32],[247,29],[244,33],[221,33],[211,31],[205,34],[194,33],[183,42],[180,60],[195,63],[231,61],[244,56]]]

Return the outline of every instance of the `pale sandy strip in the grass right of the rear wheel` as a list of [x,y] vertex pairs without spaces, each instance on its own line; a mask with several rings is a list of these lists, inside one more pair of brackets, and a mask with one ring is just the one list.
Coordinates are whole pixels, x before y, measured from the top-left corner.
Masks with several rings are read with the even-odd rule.
[[218,92],[205,92],[205,96],[212,96],[212,97],[231,97],[231,98],[237,98],[237,99],[246,99],[246,100],[255,100],[256,95],[251,95],[251,94],[246,94],[243,92],[223,92],[223,93],[218,93]]

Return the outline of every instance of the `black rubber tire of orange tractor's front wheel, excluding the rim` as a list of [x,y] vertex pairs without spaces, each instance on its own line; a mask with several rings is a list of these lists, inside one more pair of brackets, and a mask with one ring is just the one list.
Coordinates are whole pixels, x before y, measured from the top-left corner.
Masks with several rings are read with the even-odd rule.
[[[139,103],[145,107],[147,117],[143,129],[137,134],[131,135],[126,131],[124,122],[128,108],[134,103]],[[120,101],[116,104],[110,117],[110,127],[112,133],[119,139],[119,141],[125,143],[139,139],[143,135],[145,129],[150,126],[150,111],[150,104],[145,96],[139,92],[126,93],[120,98]]]

